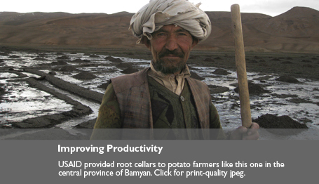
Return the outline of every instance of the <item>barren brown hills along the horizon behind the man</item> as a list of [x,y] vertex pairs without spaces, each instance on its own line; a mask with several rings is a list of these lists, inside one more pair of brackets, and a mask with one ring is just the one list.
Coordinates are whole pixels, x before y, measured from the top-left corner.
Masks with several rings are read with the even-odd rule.
[[[206,12],[212,34],[196,46],[233,50],[230,12]],[[0,13],[0,45],[142,48],[128,26],[133,13]],[[242,13],[246,51],[319,51],[319,11],[294,7],[276,17]]]

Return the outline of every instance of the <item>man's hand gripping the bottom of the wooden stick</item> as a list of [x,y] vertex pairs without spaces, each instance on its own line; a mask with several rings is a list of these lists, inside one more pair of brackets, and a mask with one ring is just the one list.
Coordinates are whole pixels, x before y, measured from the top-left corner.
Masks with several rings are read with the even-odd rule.
[[231,133],[229,139],[231,140],[257,140],[259,138],[259,124],[252,123],[250,129],[245,126],[239,126],[235,131]]

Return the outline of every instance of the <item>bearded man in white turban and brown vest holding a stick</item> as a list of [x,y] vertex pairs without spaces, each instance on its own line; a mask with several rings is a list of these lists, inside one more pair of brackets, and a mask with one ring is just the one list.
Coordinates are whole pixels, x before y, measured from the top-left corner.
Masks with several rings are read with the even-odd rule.
[[[192,79],[186,65],[191,49],[211,32],[198,6],[151,0],[133,16],[130,30],[153,60],[147,69],[110,80],[95,129],[222,129],[208,86]],[[240,126],[230,138],[257,139],[258,124],[252,128]]]

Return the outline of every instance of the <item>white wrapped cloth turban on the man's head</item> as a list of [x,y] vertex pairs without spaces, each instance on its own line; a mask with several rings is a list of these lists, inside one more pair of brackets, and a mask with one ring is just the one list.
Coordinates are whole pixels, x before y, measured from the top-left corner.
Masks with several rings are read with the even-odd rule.
[[210,19],[199,6],[188,0],[150,0],[130,20],[130,30],[135,37],[140,38],[137,44],[142,44],[142,36],[151,39],[151,33],[164,25],[177,25],[186,29],[193,37],[203,41],[212,31]]

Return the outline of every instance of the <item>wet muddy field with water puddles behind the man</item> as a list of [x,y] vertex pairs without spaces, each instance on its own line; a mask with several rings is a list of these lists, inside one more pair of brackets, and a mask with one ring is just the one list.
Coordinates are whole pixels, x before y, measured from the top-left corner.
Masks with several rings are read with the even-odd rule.
[[[0,47],[0,127],[92,128],[108,79],[150,59],[146,49]],[[319,55],[246,53],[246,63],[254,121],[267,129],[319,128]],[[222,126],[237,127],[234,54],[193,51],[188,64],[210,87]]]

